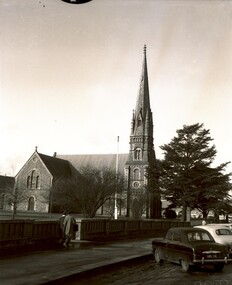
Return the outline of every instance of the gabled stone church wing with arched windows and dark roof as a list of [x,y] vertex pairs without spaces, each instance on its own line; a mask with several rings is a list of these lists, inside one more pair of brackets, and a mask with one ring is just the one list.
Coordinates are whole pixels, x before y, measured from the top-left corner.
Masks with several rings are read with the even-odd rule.
[[21,202],[17,209],[21,211],[51,212],[52,186],[59,178],[68,178],[78,174],[67,161],[48,156],[37,151],[31,155],[15,177],[15,191],[19,191]]

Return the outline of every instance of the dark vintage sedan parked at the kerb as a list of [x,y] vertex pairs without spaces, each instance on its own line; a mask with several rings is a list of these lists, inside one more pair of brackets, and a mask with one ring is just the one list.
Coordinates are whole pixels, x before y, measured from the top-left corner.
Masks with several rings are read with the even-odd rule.
[[213,265],[221,271],[231,261],[227,246],[216,243],[211,234],[201,228],[170,228],[164,238],[152,241],[152,251],[157,263],[167,260],[180,264],[184,271],[194,265]]

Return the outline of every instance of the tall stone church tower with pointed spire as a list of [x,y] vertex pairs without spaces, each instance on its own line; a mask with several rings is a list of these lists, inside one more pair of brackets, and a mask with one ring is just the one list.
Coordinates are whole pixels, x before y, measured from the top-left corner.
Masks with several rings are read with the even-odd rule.
[[141,207],[145,207],[146,217],[150,218],[154,215],[151,214],[153,210],[151,210],[151,199],[147,187],[149,183],[147,171],[149,166],[155,163],[156,158],[153,144],[153,118],[150,108],[146,45],[143,53],[139,92],[131,120],[130,150],[125,165],[125,178],[127,181],[127,216],[134,215],[133,211],[136,211],[136,207],[140,210]]

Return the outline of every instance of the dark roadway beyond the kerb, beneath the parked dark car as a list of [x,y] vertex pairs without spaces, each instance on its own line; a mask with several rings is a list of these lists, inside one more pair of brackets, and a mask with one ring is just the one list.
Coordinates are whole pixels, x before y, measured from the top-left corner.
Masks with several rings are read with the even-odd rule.
[[[63,283],[64,284],[64,283]],[[104,269],[67,280],[65,285],[232,285],[232,264],[223,272],[212,268],[183,272],[178,265],[158,265],[152,256],[126,262],[114,268]]]

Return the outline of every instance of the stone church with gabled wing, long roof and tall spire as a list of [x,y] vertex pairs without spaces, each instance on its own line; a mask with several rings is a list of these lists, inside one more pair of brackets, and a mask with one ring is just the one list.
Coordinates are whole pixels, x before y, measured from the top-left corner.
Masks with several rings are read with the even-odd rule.
[[[131,215],[133,203],[138,197],[146,193],[148,168],[155,163],[153,144],[153,118],[150,108],[150,95],[147,72],[146,46],[142,76],[136,108],[131,121],[129,154],[96,154],[96,155],[57,155],[48,156],[35,150],[29,160],[16,175],[16,189],[26,191],[28,199],[21,203],[18,209],[38,212],[49,212],[52,208],[51,187],[61,177],[77,175],[83,166],[106,166],[116,171],[118,157],[118,171],[125,175],[127,187],[123,198],[127,200],[124,213]],[[147,196],[146,217],[158,218],[161,215],[159,197]]]

